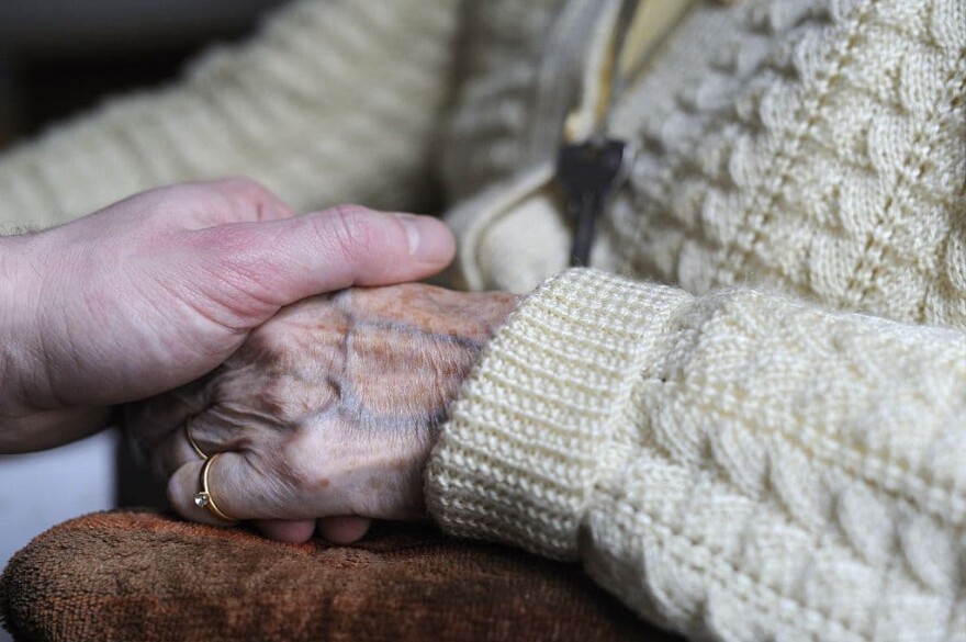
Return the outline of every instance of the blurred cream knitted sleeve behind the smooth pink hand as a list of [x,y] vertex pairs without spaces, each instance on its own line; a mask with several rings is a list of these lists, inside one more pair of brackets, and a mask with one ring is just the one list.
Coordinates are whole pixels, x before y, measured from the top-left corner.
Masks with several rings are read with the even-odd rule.
[[176,86],[109,102],[0,156],[0,226],[49,226],[226,174],[252,177],[296,210],[417,206],[456,11],[457,0],[287,5]]

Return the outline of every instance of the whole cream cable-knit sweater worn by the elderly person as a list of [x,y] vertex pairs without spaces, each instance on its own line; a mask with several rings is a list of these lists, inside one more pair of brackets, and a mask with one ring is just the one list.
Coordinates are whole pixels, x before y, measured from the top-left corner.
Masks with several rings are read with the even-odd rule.
[[[458,278],[529,291],[564,268],[552,161],[615,7],[293,4],[0,159],[0,221],[231,172],[303,209],[438,182]],[[434,517],[695,638],[966,640],[966,2],[697,2],[608,129],[640,153],[597,269],[487,347]]]

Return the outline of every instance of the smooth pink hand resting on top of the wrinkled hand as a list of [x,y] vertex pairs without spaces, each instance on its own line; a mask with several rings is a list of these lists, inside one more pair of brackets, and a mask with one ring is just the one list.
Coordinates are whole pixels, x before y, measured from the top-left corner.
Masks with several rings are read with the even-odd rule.
[[433,274],[438,221],[342,206],[301,217],[244,179],[132,196],[0,238],[0,453],[99,429],[188,383],[299,300]]

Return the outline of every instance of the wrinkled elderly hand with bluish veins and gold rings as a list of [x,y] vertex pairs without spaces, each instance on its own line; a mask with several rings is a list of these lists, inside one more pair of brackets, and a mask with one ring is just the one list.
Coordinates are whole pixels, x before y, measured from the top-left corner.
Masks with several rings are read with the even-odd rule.
[[[201,460],[188,417],[206,453],[226,453],[211,488],[233,517],[416,518],[447,406],[516,303],[422,284],[310,299],[252,331],[210,376],[130,408],[125,423],[156,472],[171,475],[169,497],[189,519],[218,523],[192,502]],[[364,522],[340,526],[364,532]],[[311,534],[296,530],[279,539]]]

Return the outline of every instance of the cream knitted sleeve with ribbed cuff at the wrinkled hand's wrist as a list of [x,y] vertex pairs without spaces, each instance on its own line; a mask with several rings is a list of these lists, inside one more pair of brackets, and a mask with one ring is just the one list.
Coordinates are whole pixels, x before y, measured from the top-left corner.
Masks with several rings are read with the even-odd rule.
[[964,640],[966,335],[566,272],[488,346],[427,504],[696,638]]

